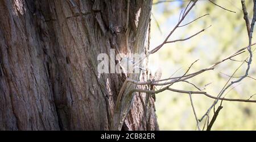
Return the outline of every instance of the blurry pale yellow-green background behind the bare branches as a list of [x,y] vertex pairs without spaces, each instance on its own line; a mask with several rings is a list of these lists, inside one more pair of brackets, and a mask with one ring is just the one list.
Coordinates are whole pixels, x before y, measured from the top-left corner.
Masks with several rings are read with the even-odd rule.
[[[158,0],[155,2],[158,2]],[[176,25],[180,11],[184,10],[188,2],[183,0],[153,5],[151,17],[151,48],[162,43]],[[192,73],[207,68],[214,62],[247,46],[248,37],[243,20],[241,1],[218,0],[214,2],[229,10],[236,11],[236,14],[222,10],[220,7],[216,7],[208,1],[199,0],[183,24],[201,15],[210,15],[189,24],[189,26],[178,28],[170,37],[170,40],[185,38],[205,27],[210,25],[212,27],[190,40],[164,45],[160,51],[150,56],[150,69],[152,72],[160,68],[162,69],[162,78],[168,78],[179,69],[174,76],[180,76],[184,74],[193,61],[200,59],[189,71],[189,73]],[[251,21],[253,1],[247,0],[246,5]],[[253,37],[255,36],[256,34]],[[255,43],[255,38],[253,39],[253,43]],[[248,53],[246,52],[234,59],[244,60],[247,56]],[[241,62],[228,60],[218,65],[216,69],[200,74],[189,81],[202,88],[204,85],[211,83],[205,91],[216,96],[229,79],[228,76],[221,73],[231,76],[240,64]],[[243,64],[235,76],[242,76],[245,73],[246,67],[247,64]],[[251,64],[249,76],[256,78],[255,61]],[[237,78],[233,78],[233,80],[237,80]],[[195,87],[186,83],[177,83],[172,87],[175,89],[196,90]],[[234,89],[229,91],[232,87]],[[245,78],[242,82],[232,87],[228,89],[229,93],[226,95],[226,98],[248,99],[256,93],[256,81],[251,78]],[[192,97],[197,116],[201,118],[214,100],[200,94],[193,94]],[[251,99],[256,99],[256,95]],[[222,106],[224,108],[220,111],[212,130],[256,130],[256,103],[224,102]],[[156,113],[158,115],[160,130],[196,130],[196,120],[187,94],[179,94],[171,91],[164,91],[163,93],[157,94]],[[210,119],[212,115],[213,112],[211,111]],[[201,128],[203,128],[203,124],[204,121],[200,123]]]

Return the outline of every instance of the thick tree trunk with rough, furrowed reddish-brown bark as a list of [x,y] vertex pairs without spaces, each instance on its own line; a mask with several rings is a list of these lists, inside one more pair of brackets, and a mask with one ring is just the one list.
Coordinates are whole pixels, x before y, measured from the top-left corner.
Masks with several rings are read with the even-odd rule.
[[[151,6],[151,0],[1,0],[0,130],[110,130],[126,77],[99,74],[97,56],[127,53],[126,39],[131,52],[146,53]],[[122,130],[158,130],[151,95],[134,93],[133,100]]]

